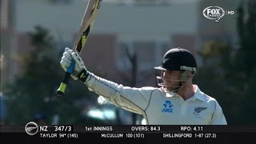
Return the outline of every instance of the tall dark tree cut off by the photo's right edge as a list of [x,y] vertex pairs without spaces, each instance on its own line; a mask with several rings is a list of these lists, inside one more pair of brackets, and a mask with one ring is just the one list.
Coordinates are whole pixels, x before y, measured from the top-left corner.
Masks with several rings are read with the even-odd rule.
[[[240,38],[240,49],[237,53],[234,70],[242,74],[245,81],[240,89],[243,91],[242,122],[255,124],[256,116],[254,103],[254,87],[256,86],[256,2],[250,0],[247,10],[241,4],[238,7],[238,34]],[[239,78],[238,80],[240,80]]]

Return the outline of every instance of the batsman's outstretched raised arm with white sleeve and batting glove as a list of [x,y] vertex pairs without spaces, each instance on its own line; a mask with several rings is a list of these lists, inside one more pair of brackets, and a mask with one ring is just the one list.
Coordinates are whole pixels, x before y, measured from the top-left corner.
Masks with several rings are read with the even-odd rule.
[[148,95],[150,94],[150,91],[152,91],[152,88],[131,88],[118,85],[117,83],[110,82],[104,78],[99,78],[87,71],[79,54],[73,52],[73,50],[70,50],[69,48],[66,48],[61,61],[64,70],[70,66],[72,58],[76,62],[74,72],[71,74],[72,78],[75,80],[80,79],[86,84],[89,90],[102,95],[110,102],[113,102],[114,105],[144,115],[144,110],[146,110],[146,106],[149,102]]

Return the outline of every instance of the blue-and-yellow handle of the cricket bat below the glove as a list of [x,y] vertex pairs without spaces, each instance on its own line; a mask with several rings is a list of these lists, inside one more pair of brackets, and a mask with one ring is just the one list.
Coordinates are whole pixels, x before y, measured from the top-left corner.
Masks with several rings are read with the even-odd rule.
[[74,65],[75,65],[75,62],[74,62],[74,59],[72,59],[70,66],[66,69],[66,73],[62,80],[62,83],[60,84],[60,86],[58,87],[58,90],[56,92],[58,94],[58,96],[64,96],[67,83],[70,79],[70,74],[72,74],[72,72],[74,70]]

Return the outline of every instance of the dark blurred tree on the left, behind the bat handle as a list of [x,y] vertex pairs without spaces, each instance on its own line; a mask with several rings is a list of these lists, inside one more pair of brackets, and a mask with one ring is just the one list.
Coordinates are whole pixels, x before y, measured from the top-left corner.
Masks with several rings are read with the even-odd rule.
[[[70,82],[66,95],[58,97],[55,92],[61,82],[64,71],[59,65],[62,52],[58,52],[50,32],[41,26],[29,33],[34,47],[22,57],[24,72],[6,86],[7,124],[25,124],[33,120],[35,114],[45,114],[50,123],[54,115],[59,116],[59,124],[85,124],[96,121],[82,114],[83,100],[97,102],[94,93],[90,93],[81,82]],[[101,123],[101,122],[97,122]]]

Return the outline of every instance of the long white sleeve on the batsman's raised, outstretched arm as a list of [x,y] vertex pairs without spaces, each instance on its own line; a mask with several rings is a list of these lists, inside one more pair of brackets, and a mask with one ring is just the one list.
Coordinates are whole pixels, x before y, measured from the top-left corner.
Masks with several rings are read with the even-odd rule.
[[150,94],[153,91],[151,87],[134,88],[129,86],[118,85],[104,78],[100,78],[90,72],[86,78],[86,86],[90,91],[102,95],[107,101],[115,106],[120,106],[138,114],[145,114],[148,106]]

